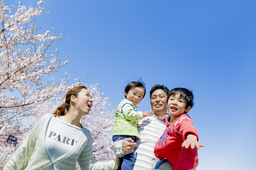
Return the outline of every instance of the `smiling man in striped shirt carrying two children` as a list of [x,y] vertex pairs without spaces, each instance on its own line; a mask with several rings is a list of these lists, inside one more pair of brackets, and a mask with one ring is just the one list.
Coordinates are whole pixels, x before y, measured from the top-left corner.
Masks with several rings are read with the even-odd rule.
[[117,155],[124,155],[134,150],[135,160],[133,170],[152,170],[154,162],[159,161],[154,154],[154,146],[163,134],[166,125],[168,88],[157,84],[150,90],[150,104],[152,116],[144,117],[139,121],[141,126],[136,143],[131,138],[115,142],[113,149]]

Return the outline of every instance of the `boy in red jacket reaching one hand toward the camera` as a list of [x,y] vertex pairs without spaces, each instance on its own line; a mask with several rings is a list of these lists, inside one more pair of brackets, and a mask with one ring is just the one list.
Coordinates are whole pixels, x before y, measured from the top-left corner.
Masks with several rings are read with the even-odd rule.
[[198,166],[197,149],[204,145],[198,143],[196,128],[187,114],[193,107],[193,99],[192,91],[186,88],[170,91],[167,98],[170,116],[166,117],[166,129],[154,148],[160,161],[153,170],[194,170]]

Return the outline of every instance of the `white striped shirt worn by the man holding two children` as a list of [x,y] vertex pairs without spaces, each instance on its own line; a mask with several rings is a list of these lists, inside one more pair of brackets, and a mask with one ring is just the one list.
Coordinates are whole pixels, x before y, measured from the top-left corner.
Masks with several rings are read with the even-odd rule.
[[[133,170],[152,170],[154,162],[159,160],[154,154],[154,147],[164,133],[166,117],[167,115],[156,117],[153,114],[152,116],[143,117],[139,121],[141,139],[136,138],[137,144],[134,147],[135,160]],[[112,148],[117,155],[124,155],[122,152],[122,141],[115,142]]]

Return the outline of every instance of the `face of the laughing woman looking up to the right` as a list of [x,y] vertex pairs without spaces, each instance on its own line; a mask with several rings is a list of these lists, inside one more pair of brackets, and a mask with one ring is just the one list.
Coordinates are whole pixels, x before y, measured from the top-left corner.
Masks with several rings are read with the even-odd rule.
[[88,115],[92,108],[92,96],[85,88],[82,88],[75,100],[75,109],[81,115]]

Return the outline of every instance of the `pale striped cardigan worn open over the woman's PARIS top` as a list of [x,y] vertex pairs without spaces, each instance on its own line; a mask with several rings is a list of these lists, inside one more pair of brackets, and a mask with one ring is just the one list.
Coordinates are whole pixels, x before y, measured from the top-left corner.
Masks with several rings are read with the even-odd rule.
[[54,170],[75,170],[77,160],[82,170],[115,170],[118,168],[116,160],[94,161],[92,135],[84,127],[74,148],[52,161],[45,143],[47,123],[52,116],[46,114],[36,123],[30,135],[23,141],[3,170],[44,170],[49,167]]

